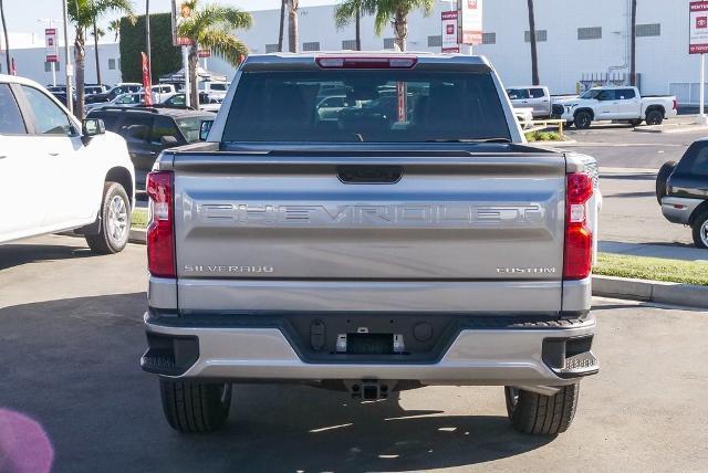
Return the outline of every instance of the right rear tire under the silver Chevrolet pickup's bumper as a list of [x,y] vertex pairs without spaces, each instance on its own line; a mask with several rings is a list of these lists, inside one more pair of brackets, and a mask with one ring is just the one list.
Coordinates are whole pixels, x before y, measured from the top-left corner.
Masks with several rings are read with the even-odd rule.
[[575,416],[580,385],[561,388],[554,396],[504,387],[507,413],[516,430],[535,435],[558,435],[568,430]]

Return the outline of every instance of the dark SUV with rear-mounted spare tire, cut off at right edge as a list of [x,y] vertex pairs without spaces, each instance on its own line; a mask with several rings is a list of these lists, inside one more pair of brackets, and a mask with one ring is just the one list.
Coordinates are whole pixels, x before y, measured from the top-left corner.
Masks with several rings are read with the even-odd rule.
[[694,143],[680,161],[662,166],[656,198],[669,222],[690,227],[696,246],[708,249],[708,139]]

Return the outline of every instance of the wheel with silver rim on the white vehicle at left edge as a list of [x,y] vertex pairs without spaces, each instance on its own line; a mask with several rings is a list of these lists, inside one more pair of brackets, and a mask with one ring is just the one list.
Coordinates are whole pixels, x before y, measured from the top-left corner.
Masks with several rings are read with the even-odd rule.
[[[119,204],[117,202],[121,202]],[[112,208],[112,206],[115,206]],[[125,212],[119,212],[123,206]],[[122,229],[119,230],[118,227]],[[131,236],[131,199],[123,186],[107,181],[103,186],[101,202],[101,231],[95,235],[86,235],[86,243],[94,253],[114,254],[125,249]]]

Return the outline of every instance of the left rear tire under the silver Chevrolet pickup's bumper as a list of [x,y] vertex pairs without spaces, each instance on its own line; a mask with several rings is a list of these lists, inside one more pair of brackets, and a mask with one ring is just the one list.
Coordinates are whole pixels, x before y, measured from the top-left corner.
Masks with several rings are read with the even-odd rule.
[[165,418],[179,432],[214,432],[222,428],[229,418],[230,383],[160,379],[159,391]]

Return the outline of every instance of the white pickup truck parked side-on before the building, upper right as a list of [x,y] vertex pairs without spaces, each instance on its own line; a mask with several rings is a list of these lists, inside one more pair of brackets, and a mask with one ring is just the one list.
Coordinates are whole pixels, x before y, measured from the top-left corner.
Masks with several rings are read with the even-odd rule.
[[675,117],[678,103],[675,96],[641,96],[637,87],[593,87],[579,97],[553,103],[553,117],[565,119],[568,126],[587,129],[596,120],[627,122],[633,126],[646,120],[647,125],[660,125]]

